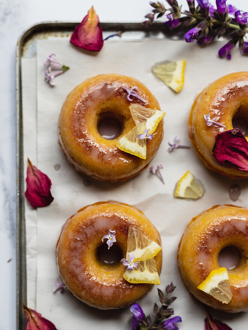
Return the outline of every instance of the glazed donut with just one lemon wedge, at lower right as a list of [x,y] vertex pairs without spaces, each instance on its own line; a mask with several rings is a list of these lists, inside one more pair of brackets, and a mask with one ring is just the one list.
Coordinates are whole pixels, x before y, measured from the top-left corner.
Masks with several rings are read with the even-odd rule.
[[[218,255],[227,247],[240,253],[236,267],[228,270],[232,299],[223,304],[197,286],[218,269]],[[177,264],[182,281],[204,304],[226,312],[248,310],[248,210],[233,205],[215,205],[194,217],[178,247]]]

